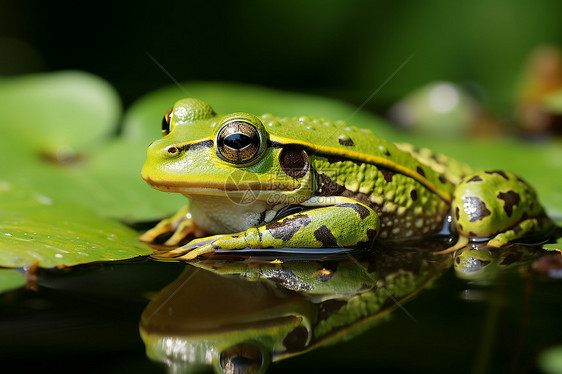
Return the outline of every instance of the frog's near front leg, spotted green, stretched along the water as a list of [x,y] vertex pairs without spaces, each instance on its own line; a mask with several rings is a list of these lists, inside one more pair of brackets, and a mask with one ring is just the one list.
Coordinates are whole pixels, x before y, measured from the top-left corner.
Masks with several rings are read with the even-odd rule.
[[371,243],[380,227],[369,207],[345,197],[312,197],[309,210],[232,235],[195,239],[158,257],[191,260],[216,250],[347,247]]

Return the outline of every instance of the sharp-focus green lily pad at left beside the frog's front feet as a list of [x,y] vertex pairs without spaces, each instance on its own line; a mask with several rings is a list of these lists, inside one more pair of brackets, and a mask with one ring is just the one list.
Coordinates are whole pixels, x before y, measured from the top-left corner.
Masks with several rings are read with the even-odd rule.
[[0,264],[62,267],[146,256],[152,251],[123,224],[88,208],[0,183]]

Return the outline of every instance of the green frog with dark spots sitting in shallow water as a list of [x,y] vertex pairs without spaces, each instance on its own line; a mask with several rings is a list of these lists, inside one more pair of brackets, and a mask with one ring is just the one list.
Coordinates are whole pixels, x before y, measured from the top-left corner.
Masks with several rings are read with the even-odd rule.
[[448,250],[552,236],[535,190],[503,170],[321,117],[219,114],[185,98],[164,115],[142,177],[189,205],[140,239],[190,261],[229,250],[372,247],[451,228]]

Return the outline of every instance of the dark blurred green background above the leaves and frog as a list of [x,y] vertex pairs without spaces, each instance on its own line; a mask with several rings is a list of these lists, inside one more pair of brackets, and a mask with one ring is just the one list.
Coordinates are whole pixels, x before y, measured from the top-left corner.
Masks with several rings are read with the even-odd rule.
[[361,104],[382,113],[435,80],[509,112],[530,51],[560,44],[557,1],[0,2],[0,74],[80,69],[125,104],[177,81],[228,80]]

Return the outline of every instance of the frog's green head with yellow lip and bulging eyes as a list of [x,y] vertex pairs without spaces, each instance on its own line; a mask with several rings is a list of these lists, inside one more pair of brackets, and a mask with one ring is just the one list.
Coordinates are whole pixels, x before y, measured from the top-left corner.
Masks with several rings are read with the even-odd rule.
[[252,114],[221,115],[205,102],[183,99],[164,116],[162,133],[142,169],[158,190],[293,204],[313,192],[306,152],[270,142]]

